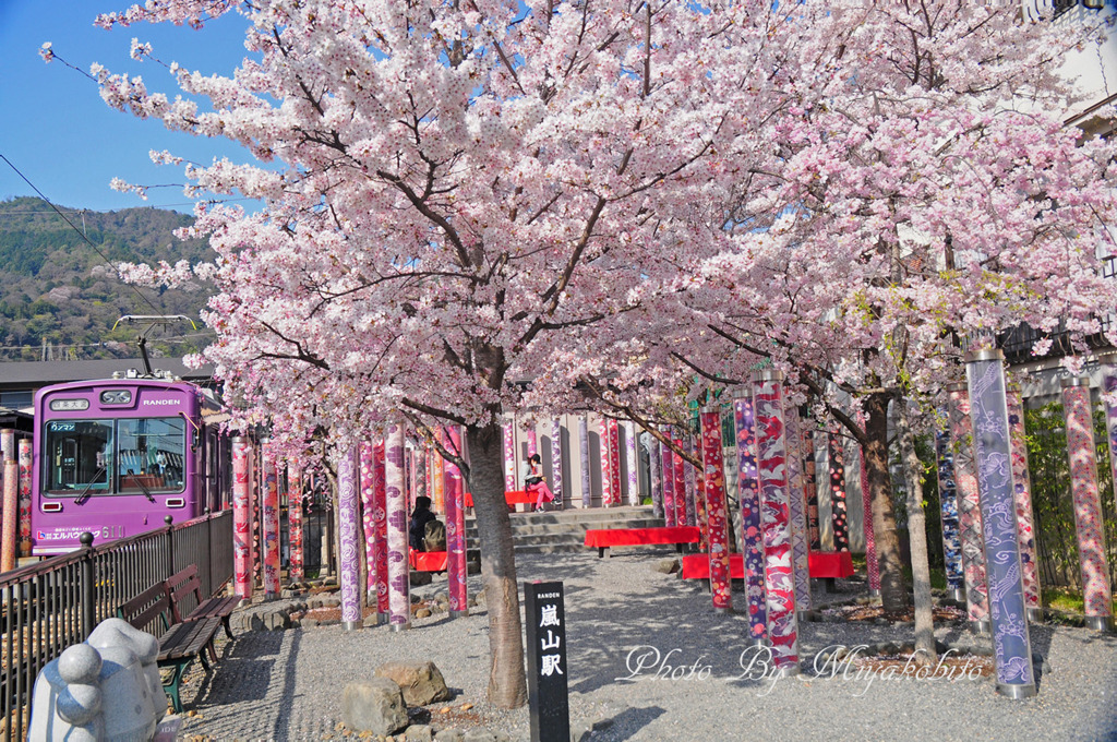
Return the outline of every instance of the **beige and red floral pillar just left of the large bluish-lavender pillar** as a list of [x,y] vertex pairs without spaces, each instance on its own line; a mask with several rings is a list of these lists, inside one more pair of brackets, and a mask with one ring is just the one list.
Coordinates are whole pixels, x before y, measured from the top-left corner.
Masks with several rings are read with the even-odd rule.
[[954,484],[958,502],[958,533],[962,539],[962,569],[966,581],[970,629],[989,631],[989,591],[985,587],[985,552],[982,545],[977,472],[974,468],[973,424],[970,393],[965,383],[946,388],[949,394],[951,448],[954,453]]

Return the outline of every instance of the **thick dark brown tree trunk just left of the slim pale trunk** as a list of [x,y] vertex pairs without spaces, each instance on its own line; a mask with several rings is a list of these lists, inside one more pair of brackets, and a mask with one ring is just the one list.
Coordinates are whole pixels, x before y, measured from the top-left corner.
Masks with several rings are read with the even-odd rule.
[[[886,612],[907,610],[907,588],[900,565],[900,541],[896,535],[892,483],[888,474],[888,401],[891,394],[876,392],[865,398],[865,468],[872,494],[872,532],[880,567],[880,601]],[[869,514],[866,513],[866,517]]]

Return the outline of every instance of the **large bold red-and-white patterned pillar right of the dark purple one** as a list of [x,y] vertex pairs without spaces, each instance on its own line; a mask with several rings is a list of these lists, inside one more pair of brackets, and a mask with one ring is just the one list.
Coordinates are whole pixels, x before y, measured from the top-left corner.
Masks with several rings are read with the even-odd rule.
[[798,675],[799,621],[795,617],[795,575],[789,521],[791,493],[783,424],[783,374],[779,371],[755,372],[752,389],[773,677]]

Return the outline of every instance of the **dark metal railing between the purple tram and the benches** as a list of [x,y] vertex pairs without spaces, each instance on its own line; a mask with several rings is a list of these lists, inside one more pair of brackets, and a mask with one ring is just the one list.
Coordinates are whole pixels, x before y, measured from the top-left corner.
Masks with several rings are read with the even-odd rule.
[[[84,641],[116,608],[174,572],[198,565],[203,596],[232,578],[232,512],[187,521],[93,546],[84,545],[0,574],[0,740],[27,736],[39,670]],[[191,602],[183,606],[192,609]],[[155,627],[152,627],[155,628]],[[161,630],[161,627],[156,630]]]

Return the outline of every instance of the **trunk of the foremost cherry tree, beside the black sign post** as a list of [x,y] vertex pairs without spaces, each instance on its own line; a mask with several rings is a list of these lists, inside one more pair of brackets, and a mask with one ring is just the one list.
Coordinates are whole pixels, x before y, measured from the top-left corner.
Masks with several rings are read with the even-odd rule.
[[512,522],[504,498],[500,427],[468,426],[469,492],[477,515],[481,580],[489,617],[489,703],[515,708],[527,703],[524,644],[519,622],[519,586],[512,548]]

